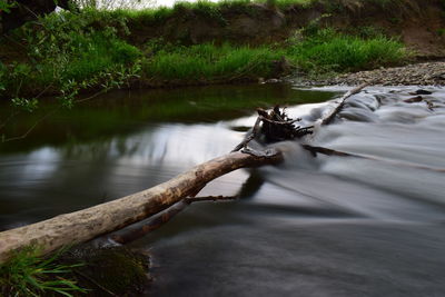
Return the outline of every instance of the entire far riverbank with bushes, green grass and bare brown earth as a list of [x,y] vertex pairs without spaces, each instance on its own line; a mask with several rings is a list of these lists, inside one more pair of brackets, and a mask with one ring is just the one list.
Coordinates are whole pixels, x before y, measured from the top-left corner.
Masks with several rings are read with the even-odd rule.
[[32,111],[44,96],[69,108],[81,92],[397,66],[444,55],[443,10],[438,0],[314,0],[51,13],[2,37],[0,97]]

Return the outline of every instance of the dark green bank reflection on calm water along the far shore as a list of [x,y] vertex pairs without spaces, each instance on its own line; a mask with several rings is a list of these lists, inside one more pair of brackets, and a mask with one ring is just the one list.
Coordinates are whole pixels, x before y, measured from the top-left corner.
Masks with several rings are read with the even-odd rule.
[[[0,143],[0,152],[29,151],[43,146],[77,146],[93,141],[95,146],[110,138],[150,129],[160,123],[214,123],[250,115],[255,107],[275,103],[325,101],[328,92],[294,90],[284,85],[214,86],[171,90],[117,91],[79,103],[72,110],[57,110],[42,121],[26,139]],[[50,103],[39,112],[19,115],[8,123],[7,138],[24,133],[41,119]],[[9,106],[0,106],[1,122],[9,117]],[[249,123],[251,125],[251,123]]]

